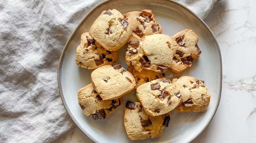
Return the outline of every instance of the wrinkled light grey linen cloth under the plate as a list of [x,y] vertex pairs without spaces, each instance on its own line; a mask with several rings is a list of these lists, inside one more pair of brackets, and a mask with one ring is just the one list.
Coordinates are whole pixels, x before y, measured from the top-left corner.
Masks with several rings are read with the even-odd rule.
[[[58,90],[61,51],[103,0],[0,2],[0,142],[51,142],[75,123]],[[202,19],[215,0],[177,0]]]

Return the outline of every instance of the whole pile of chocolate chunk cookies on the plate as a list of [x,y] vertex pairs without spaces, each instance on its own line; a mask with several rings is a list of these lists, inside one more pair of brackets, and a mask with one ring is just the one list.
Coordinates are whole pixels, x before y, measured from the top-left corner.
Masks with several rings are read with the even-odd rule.
[[[78,103],[86,116],[105,119],[119,107],[123,95],[137,90],[139,102],[127,101],[124,127],[130,139],[162,134],[170,111],[201,112],[210,102],[204,81],[195,77],[164,78],[169,68],[180,73],[191,67],[201,50],[198,37],[185,29],[170,37],[150,9],[122,15],[116,9],[103,11],[89,32],[81,35],[76,64],[96,69],[92,83],[78,91]],[[128,43],[126,70],[117,61],[118,49]]]

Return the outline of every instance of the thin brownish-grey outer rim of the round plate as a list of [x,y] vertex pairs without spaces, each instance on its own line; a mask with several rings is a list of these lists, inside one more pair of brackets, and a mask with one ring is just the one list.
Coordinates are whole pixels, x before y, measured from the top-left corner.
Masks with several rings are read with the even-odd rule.
[[[87,17],[89,15],[91,15],[93,13],[93,11],[95,9],[97,9],[98,7],[106,4],[106,3],[110,3],[110,2],[115,2],[115,1],[119,1],[119,0],[106,0],[106,1],[103,1],[101,3],[99,3],[98,5],[96,5],[94,8],[92,8],[86,15],[85,17],[83,18],[83,20],[77,25],[77,27],[75,28],[75,30],[73,31],[73,33],[71,34],[71,36],[69,37],[68,41],[66,42],[62,52],[61,52],[61,55],[60,55],[60,58],[59,58],[59,62],[58,62],[58,69],[57,69],[57,81],[58,81],[58,89],[59,89],[59,93],[60,93],[60,98],[61,98],[61,101],[66,109],[66,111],[68,112],[69,116],[71,117],[71,119],[75,122],[76,126],[88,137],[90,138],[93,142],[98,142],[92,135],[90,135],[89,133],[87,133],[86,130],[84,130],[81,126],[81,124],[75,119],[75,116],[71,113],[71,110],[70,108],[68,107],[67,103],[66,103],[66,100],[64,99],[64,96],[63,96],[63,91],[62,91],[62,85],[61,85],[61,68],[62,68],[62,63],[63,63],[63,57],[65,55],[65,51],[67,50],[67,46],[68,44],[70,43],[71,39],[73,39],[76,31],[81,27],[81,25],[84,23],[84,21],[87,19]],[[170,3],[174,3],[182,8],[184,8],[185,10],[187,10],[189,13],[191,13],[193,16],[195,16],[206,28],[207,30],[210,32],[210,34],[212,35],[213,39],[214,39],[214,42],[216,43],[217,45],[217,48],[218,48],[218,53],[220,55],[220,87],[219,87],[219,96],[218,96],[218,103],[217,103],[217,106],[215,107],[214,109],[214,114],[211,116],[210,120],[208,120],[207,124],[203,127],[203,129],[197,133],[197,135],[195,135],[194,137],[192,137],[189,142],[192,142],[194,139],[196,139],[199,135],[201,135],[203,133],[203,131],[206,129],[206,127],[210,124],[211,120],[213,119],[214,115],[216,114],[216,111],[219,107],[219,104],[220,104],[220,99],[221,99],[221,93],[222,93],[222,56],[221,56],[221,50],[220,50],[220,46],[218,44],[218,41],[216,40],[216,37],[215,35],[213,34],[213,32],[211,31],[211,29],[209,28],[209,26],[198,16],[196,15],[192,10],[190,10],[189,8],[187,8],[186,6],[182,5],[181,3],[179,2],[176,2],[176,1],[173,1],[173,0],[162,0],[162,1],[167,1],[167,2],[170,2]]]

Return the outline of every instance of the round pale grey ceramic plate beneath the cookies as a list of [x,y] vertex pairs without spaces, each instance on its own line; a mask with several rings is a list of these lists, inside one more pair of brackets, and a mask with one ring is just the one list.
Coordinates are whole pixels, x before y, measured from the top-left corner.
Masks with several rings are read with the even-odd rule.
[[[202,54],[195,60],[191,68],[174,74],[170,70],[166,77],[172,79],[179,75],[194,76],[204,80],[211,94],[209,107],[205,112],[171,111],[168,128],[164,128],[159,137],[145,140],[130,140],[123,125],[123,111],[127,100],[138,101],[136,90],[123,96],[123,104],[104,120],[86,117],[78,105],[77,91],[91,83],[91,72],[80,68],[75,63],[76,47],[80,44],[80,36],[90,30],[91,25],[103,10],[117,9],[122,14],[142,9],[152,9],[157,22],[162,25],[163,34],[172,36],[186,28],[192,29],[199,37]],[[118,61],[124,68],[126,45],[119,49]],[[169,0],[108,0],[91,10],[78,25],[67,41],[58,66],[58,84],[61,99],[71,118],[81,131],[94,142],[190,142],[200,135],[213,118],[221,96],[222,61],[219,45],[209,27],[191,10]]]

